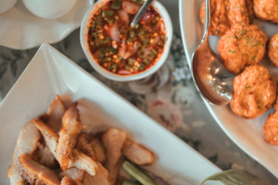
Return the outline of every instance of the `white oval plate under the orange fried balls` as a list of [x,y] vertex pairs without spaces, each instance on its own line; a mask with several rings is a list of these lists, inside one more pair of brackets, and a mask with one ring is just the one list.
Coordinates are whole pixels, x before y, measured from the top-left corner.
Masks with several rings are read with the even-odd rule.
[[[199,8],[202,0],[180,0],[179,1],[179,19],[181,24],[181,36],[183,47],[186,52],[188,65],[191,67],[191,56],[200,43],[203,26],[199,21]],[[278,33],[278,26],[263,21],[255,20],[254,24],[263,30],[268,38]],[[217,53],[217,44],[219,37],[211,36],[210,45],[213,51]],[[261,62],[270,69],[270,73],[277,80],[278,68],[270,64],[268,59],[264,58]],[[203,99],[204,100],[204,99]],[[246,119],[236,116],[229,109],[229,106],[213,106],[204,100],[206,107],[222,130],[234,141],[247,155],[265,166],[270,172],[278,177],[278,146],[271,146],[264,141],[263,124],[265,119],[274,112],[270,109],[256,119]]]

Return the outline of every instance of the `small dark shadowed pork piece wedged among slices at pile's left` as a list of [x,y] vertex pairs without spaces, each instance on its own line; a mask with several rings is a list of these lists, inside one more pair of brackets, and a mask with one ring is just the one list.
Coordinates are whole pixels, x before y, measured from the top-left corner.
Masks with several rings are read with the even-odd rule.
[[39,164],[47,166],[48,168],[54,169],[57,167],[57,161],[54,155],[51,153],[49,148],[42,143],[38,144],[38,150],[33,155],[35,161]]

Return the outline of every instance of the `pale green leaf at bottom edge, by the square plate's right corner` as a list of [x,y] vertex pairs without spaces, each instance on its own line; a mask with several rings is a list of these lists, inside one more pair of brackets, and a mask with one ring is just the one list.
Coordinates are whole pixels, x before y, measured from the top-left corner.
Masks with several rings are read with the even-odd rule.
[[231,169],[211,175],[211,177],[204,179],[200,185],[209,180],[220,181],[225,185],[252,185],[259,184],[261,182],[258,177],[240,169]]

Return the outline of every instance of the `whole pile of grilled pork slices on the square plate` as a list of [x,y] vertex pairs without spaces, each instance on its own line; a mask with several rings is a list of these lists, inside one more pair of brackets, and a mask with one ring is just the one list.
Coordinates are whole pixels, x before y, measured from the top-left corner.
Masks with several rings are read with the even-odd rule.
[[154,163],[154,152],[122,130],[82,132],[77,102],[67,107],[56,96],[46,114],[22,128],[8,169],[10,184],[122,184],[125,157],[136,164]]

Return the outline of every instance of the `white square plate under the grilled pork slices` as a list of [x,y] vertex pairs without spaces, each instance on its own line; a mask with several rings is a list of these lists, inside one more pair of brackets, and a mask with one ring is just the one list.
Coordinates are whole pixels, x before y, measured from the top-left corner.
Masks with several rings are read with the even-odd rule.
[[172,184],[199,184],[220,171],[56,49],[42,44],[0,105],[0,184],[9,184],[6,173],[19,131],[29,120],[44,113],[56,94],[87,100],[90,103],[85,112],[91,114],[92,125],[120,127],[152,148],[158,161],[149,170]]

